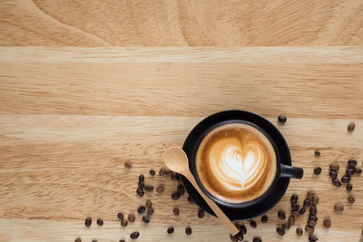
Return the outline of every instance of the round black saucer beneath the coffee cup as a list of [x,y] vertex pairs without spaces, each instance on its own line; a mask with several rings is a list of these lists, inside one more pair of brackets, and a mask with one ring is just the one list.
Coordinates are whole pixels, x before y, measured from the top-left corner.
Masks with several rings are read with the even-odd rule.
[[[197,126],[195,126],[194,129],[189,133],[187,139],[184,141],[184,145],[182,146],[182,150],[185,151],[189,159],[191,158],[191,151],[193,150],[193,147],[198,138],[201,136],[202,132],[211,127],[211,125],[226,120],[250,121],[260,126],[260,128],[266,131],[270,135],[270,138],[275,141],[280,153],[281,163],[291,165],[289,147],[285,139],[282,137],[280,131],[272,123],[270,123],[270,121],[265,120],[259,115],[249,111],[239,110],[217,112],[198,123]],[[196,204],[206,212],[215,216],[208,204],[204,201],[203,198],[201,198],[201,195],[199,195],[197,190],[191,186],[189,180],[182,177],[182,182]],[[266,213],[268,210],[270,210],[270,208],[273,208],[283,197],[286,189],[288,189],[288,186],[289,178],[280,178],[275,189],[268,197],[261,200],[259,203],[250,206],[249,208],[227,208],[221,205],[219,206],[231,220],[245,220],[255,218]]]

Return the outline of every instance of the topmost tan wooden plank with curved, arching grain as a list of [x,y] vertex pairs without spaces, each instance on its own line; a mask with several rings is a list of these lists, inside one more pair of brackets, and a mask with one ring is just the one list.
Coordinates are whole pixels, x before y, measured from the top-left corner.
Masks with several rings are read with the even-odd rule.
[[363,3],[331,1],[10,0],[1,45],[361,45]]

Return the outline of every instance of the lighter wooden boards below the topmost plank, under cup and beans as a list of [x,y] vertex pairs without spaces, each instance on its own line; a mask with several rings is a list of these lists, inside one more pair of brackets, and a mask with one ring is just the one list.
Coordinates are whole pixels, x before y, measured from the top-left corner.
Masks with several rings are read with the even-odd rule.
[[[277,211],[289,211],[293,192],[320,198],[319,241],[359,241],[363,228],[363,175],[347,191],[333,187],[328,166],[363,160],[363,48],[0,48],[0,240],[1,241],[227,241],[217,218],[198,218],[187,195],[171,198],[177,182],[150,178],[162,167],[162,152],[182,146],[192,127],[215,111],[259,113],[277,125],[289,143],[294,166],[286,196],[268,212],[269,222],[248,227],[248,241],[295,241],[296,226],[276,234]],[[288,117],[277,123],[281,113]],[[348,123],[356,130],[349,133]],[[314,150],[321,156],[314,157]],[[123,162],[132,161],[132,169]],[[312,174],[315,166],[323,171]],[[162,194],[138,198],[139,174],[164,184]],[[341,173],[340,173],[341,175]],[[151,198],[147,226],[136,216],[129,227],[116,215]],[[333,212],[342,202],[342,214]],[[181,209],[179,218],[172,208]],[[93,218],[90,228],[84,219]],[[104,226],[95,224],[103,218]],[[322,227],[323,218],[332,227]],[[307,214],[297,226],[304,226]],[[167,227],[175,227],[168,236]],[[193,233],[187,237],[186,226]],[[301,241],[307,241],[304,235]]]

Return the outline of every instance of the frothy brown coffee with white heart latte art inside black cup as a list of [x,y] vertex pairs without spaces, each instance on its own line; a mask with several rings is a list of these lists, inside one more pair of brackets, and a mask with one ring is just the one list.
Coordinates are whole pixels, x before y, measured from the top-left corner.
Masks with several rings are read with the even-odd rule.
[[210,131],[197,150],[201,184],[214,197],[231,203],[259,198],[276,175],[270,140],[245,123],[229,123]]

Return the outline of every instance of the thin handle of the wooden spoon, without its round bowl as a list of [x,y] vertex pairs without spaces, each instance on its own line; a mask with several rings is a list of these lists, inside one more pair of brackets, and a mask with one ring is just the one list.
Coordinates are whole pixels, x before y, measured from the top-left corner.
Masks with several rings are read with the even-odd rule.
[[197,191],[199,192],[199,194],[201,194],[201,197],[208,203],[208,205],[211,207],[211,209],[213,210],[213,212],[217,215],[218,218],[220,218],[221,222],[223,223],[223,225],[225,227],[228,228],[228,231],[230,232],[231,235],[235,236],[236,234],[238,234],[239,229],[237,227],[234,226],[234,224],[231,222],[231,219],[228,218],[223,211],[221,210],[220,207],[218,207],[218,205],[211,200],[211,198],[208,198],[207,195],[204,194],[204,192],[201,191],[201,188],[199,187],[199,185],[197,184],[197,182],[195,181],[194,177],[191,175],[191,171],[185,171],[183,172],[184,177],[186,177],[187,179],[189,179],[189,181],[191,182],[191,185],[197,189]]

